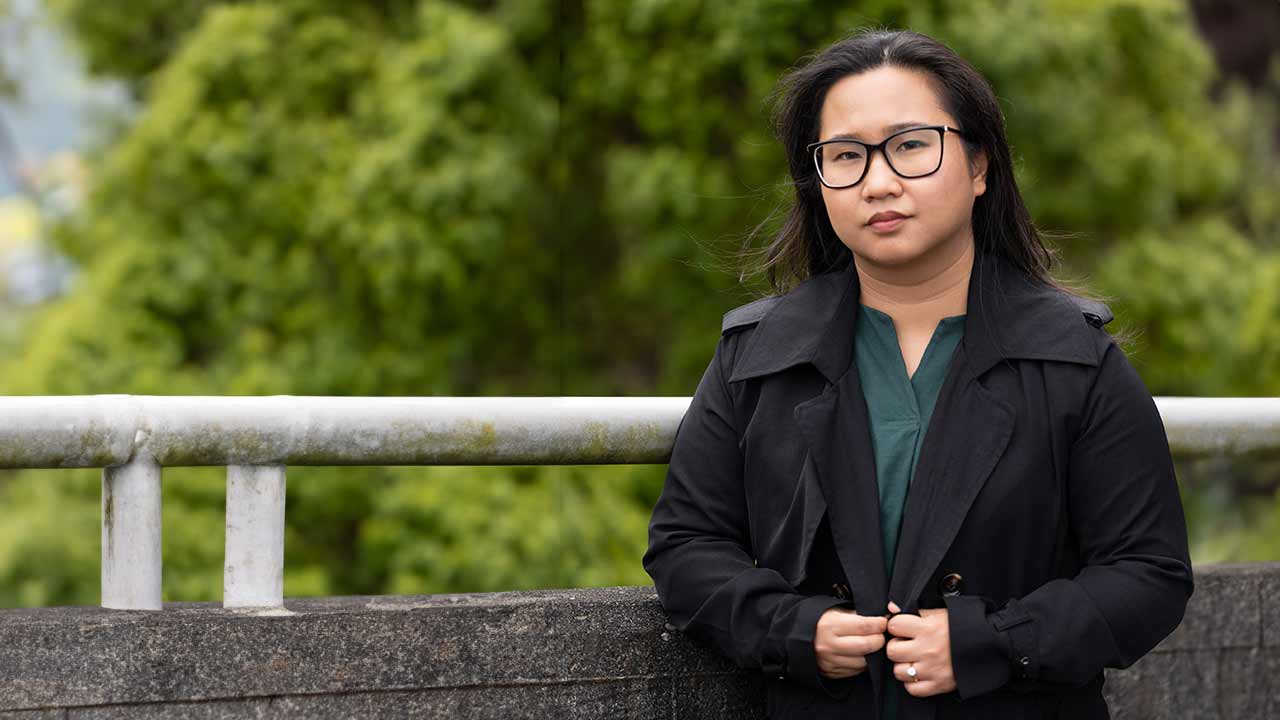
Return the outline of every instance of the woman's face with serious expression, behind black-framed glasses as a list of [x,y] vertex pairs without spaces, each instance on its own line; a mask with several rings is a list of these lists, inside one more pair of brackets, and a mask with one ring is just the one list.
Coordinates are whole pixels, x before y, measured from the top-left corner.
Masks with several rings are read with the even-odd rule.
[[[841,78],[823,101],[818,140],[849,135],[877,143],[892,135],[888,126],[906,122],[956,127],[927,77],[884,65]],[[960,136],[947,132],[942,142],[942,167],[932,176],[904,178],[890,169],[883,154],[873,152],[858,184],[842,190],[822,186],[831,225],[859,264],[899,270],[946,266],[965,243],[973,243],[973,201],[987,190],[987,159],[979,154],[970,173]],[[906,219],[888,229],[868,224],[884,211]]]

